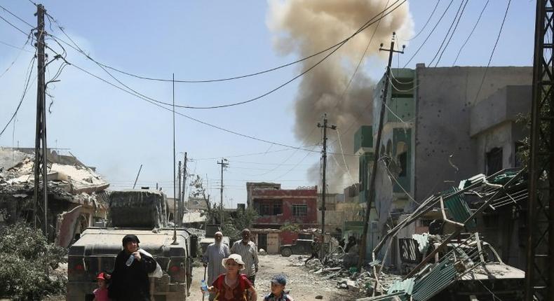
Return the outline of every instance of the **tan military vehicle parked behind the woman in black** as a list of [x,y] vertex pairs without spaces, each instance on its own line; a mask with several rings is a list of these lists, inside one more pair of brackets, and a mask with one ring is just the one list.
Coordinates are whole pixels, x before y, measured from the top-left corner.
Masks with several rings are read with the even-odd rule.
[[168,227],[167,214],[167,198],[161,191],[112,192],[108,227],[86,229],[69,248],[66,300],[93,300],[96,275],[112,272],[123,250],[121,239],[128,234],[137,235],[140,248],[151,253],[163,270],[161,278],[150,278],[151,300],[187,300],[198,238],[184,228]]

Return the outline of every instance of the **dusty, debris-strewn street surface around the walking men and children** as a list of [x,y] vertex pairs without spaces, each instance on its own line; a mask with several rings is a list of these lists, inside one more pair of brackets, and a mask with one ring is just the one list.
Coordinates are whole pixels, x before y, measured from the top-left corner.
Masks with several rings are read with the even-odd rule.
[[[337,280],[323,279],[323,277],[311,274],[307,267],[292,265],[293,260],[297,260],[297,258],[298,255],[292,255],[289,258],[281,255],[259,256],[259,272],[256,276],[258,300],[263,300],[264,295],[269,293],[270,279],[275,274],[285,274],[287,276],[287,289],[290,290],[290,294],[297,301],[350,301],[361,297],[351,290],[337,288]],[[200,281],[203,278],[203,272],[203,267],[194,267],[193,269],[191,301],[202,300]],[[316,299],[318,295],[323,296],[323,299]]]

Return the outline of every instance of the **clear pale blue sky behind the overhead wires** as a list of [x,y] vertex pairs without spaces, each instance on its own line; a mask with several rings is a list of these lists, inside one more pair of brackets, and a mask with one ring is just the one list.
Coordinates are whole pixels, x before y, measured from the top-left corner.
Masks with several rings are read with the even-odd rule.
[[[337,0],[338,1],[338,0]],[[431,61],[454,18],[461,0],[454,0],[444,20],[421,48],[408,67]],[[81,48],[98,61],[131,73],[156,78],[206,79],[236,76],[267,69],[297,59],[294,53],[283,56],[273,48],[275,35],[267,27],[269,5],[266,1],[43,1],[48,13],[65,27]],[[409,1],[414,32],[425,24],[436,1]],[[403,66],[450,3],[440,0],[437,11],[425,30],[407,44],[404,55],[394,59]],[[459,66],[487,64],[507,1],[490,0],[475,33],[457,61]],[[29,1],[2,0],[2,6],[31,24],[36,23],[35,8]],[[461,44],[468,36],[485,4],[469,1],[456,34],[438,66],[451,66]],[[532,64],[534,35],[534,1],[511,2],[508,17],[496,47],[492,66],[528,66]],[[0,16],[17,27],[30,27],[0,9]],[[309,22],[309,21],[306,21]],[[332,27],[332,24],[321,26]],[[370,28],[371,29],[371,28]],[[367,30],[370,30],[367,29]],[[62,32],[52,26],[47,29],[60,38]],[[337,36],[337,41],[343,37]],[[400,38],[410,38],[403,37]],[[25,36],[0,20],[0,42],[21,46]],[[69,41],[68,41],[69,42]],[[389,41],[382,41],[389,43]],[[15,60],[0,78],[0,125],[4,127],[19,102],[27,66],[32,53],[0,43],[0,74]],[[55,46],[53,41],[49,45]],[[66,47],[67,48],[67,47]],[[32,50],[27,46],[27,50]],[[109,79],[102,69],[78,52],[67,48],[67,59],[102,78]],[[53,55],[50,55],[53,57]],[[55,63],[49,70],[55,73]],[[363,68],[377,79],[386,62],[374,57]],[[298,73],[297,66],[248,79],[224,83],[175,85],[177,104],[215,105],[238,102],[273,89]],[[143,94],[164,102],[172,100],[171,83],[151,82],[121,76],[124,83]],[[50,77],[47,73],[46,78]],[[88,165],[97,167],[113,188],[129,188],[142,164],[139,184],[160,183],[168,195],[173,195],[172,116],[152,104],[116,90],[85,73],[67,66],[51,87],[54,97],[48,114],[48,146],[70,148]],[[250,104],[217,110],[179,110],[205,122],[229,130],[292,146],[302,145],[293,133],[293,104],[298,81]],[[15,123],[0,137],[0,146],[34,146],[34,109],[36,83],[27,93]],[[48,99],[50,102],[50,99]],[[229,157],[225,172],[226,205],[245,202],[245,181],[277,181],[285,188],[313,186],[306,169],[319,161],[318,153],[285,150],[222,132],[179,116],[175,120],[178,158],[187,151],[189,171],[208,175],[212,197],[219,200],[219,165],[217,159],[249,153],[265,153]],[[315,126],[315,125],[314,125]],[[273,152],[278,151],[278,152]],[[214,159],[208,159],[214,158]],[[287,160],[288,159],[288,160]],[[337,168],[335,162],[330,169]],[[294,168],[292,168],[294,167]],[[275,170],[272,170],[275,169]]]

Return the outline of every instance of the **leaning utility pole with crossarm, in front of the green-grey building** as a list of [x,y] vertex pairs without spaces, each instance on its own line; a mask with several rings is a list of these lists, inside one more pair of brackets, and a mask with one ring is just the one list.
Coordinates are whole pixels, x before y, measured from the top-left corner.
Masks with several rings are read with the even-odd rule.
[[370,214],[371,214],[371,204],[374,202],[375,199],[375,176],[377,174],[377,164],[379,162],[379,149],[381,148],[381,133],[383,132],[383,123],[384,123],[384,116],[385,116],[385,108],[386,108],[386,97],[387,92],[389,91],[389,80],[391,76],[391,64],[393,62],[393,53],[404,53],[405,46],[402,46],[402,51],[394,50],[394,40],[396,38],[396,33],[393,32],[393,38],[391,39],[391,48],[390,49],[384,49],[383,44],[381,43],[381,47],[379,47],[379,51],[389,51],[389,64],[386,66],[386,72],[385,72],[385,83],[384,83],[384,90],[382,99],[383,102],[381,103],[381,114],[379,115],[379,128],[377,129],[377,139],[374,143],[374,155],[373,155],[373,166],[372,166],[372,172],[370,174],[370,187],[369,187],[369,193],[367,194],[367,207],[365,209],[365,216],[363,219],[363,233],[362,233],[362,241],[360,246],[360,260],[358,262],[358,267],[362,267],[362,265],[365,262],[365,250],[367,246],[367,228],[369,228],[370,223]]

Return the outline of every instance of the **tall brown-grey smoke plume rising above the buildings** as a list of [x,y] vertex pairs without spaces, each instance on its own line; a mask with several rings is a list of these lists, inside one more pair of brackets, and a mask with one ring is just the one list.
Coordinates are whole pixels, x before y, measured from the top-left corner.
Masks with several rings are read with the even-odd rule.
[[[393,0],[270,0],[267,22],[274,34],[273,45],[276,50],[283,55],[295,53],[299,57],[305,57],[342,41],[367,20],[375,15],[380,17],[384,8],[393,3]],[[297,139],[304,144],[320,142],[321,135],[316,125],[322,122],[323,113],[327,113],[329,123],[337,125],[340,131],[344,153],[353,154],[354,132],[360,125],[372,123],[374,81],[364,71],[371,67],[366,66],[365,60],[379,55],[379,44],[388,44],[393,31],[403,38],[412,35],[412,18],[407,3],[386,15],[378,27],[374,24],[352,38],[302,77],[294,108]],[[360,69],[349,85],[364,52]],[[325,54],[302,62],[300,71],[311,67]],[[381,56],[386,57],[386,53]],[[382,68],[382,64],[378,68]],[[344,93],[348,85],[349,88]],[[328,136],[330,151],[340,153],[341,149],[336,141],[337,133],[328,130]],[[336,142],[333,143],[334,141]],[[342,155],[330,155],[327,160],[330,192],[340,193],[346,186],[358,182],[358,158],[346,156],[344,159],[351,176],[346,172]],[[309,169],[309,177],[318,181],[319,166]]]

